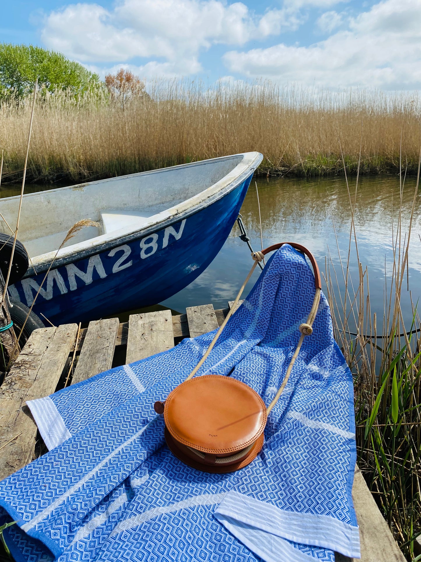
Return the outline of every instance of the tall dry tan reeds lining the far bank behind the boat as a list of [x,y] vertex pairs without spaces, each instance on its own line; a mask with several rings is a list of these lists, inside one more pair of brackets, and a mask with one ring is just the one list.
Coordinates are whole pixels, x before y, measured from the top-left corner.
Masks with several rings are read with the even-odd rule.
[[[149,99],[132,99],[124,110],[105,95],[48,94],[35,111],[29,180],[99,179],[253,150],[265,156],[262,174],[342,174],[338,137],[354,173],[361,121],[361,173],[399,170],[401,130],[404,166],[417,169],[418,98],[270,83],[206,89],[167,81],[147,90]],[[21,178],[28,122],[29,103],[0,108],[3,181]]]

